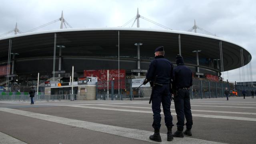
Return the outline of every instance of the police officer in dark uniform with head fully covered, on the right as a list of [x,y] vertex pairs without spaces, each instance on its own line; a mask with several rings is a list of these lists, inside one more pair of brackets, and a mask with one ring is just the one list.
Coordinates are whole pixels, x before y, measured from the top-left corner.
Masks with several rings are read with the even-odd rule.
[[[174,137],[183,138],[186,134],[192,136],[192,114],[190,107],[190,92],[188,88],[192,86],[192,72],[184,65],[182,56],[176,56],[177,67],[174,69],[174,87],[176,94],[174,94],[175,111],[177,114],[177,131],[174,132]],[[186,130],[183,132],[184,115],[186,117]]]

